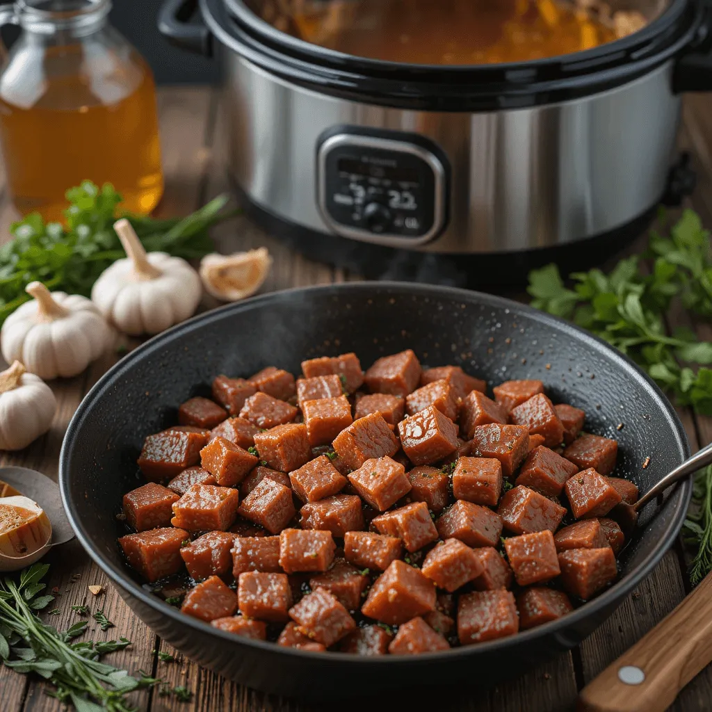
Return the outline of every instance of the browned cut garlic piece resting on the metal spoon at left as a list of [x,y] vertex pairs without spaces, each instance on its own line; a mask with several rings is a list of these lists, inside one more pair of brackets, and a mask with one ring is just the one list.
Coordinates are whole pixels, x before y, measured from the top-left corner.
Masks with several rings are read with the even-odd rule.
[[0,499],[0,571],[16,571],[36,562],[50,547],[52,525],[29,497]]

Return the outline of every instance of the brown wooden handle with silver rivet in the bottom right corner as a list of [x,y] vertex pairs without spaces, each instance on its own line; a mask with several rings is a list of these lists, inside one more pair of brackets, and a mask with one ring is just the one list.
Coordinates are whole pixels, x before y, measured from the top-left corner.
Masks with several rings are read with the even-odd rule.
[[580,693],[585,712],[664,712],[712,660],[712,573]]

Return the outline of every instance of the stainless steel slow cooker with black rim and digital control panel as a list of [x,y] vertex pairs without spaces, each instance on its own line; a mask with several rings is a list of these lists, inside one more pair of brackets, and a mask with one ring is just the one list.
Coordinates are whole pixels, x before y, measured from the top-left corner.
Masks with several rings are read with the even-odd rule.
[[675,144],[681,93],[712,88],[703,0],[613,2],[644,26],[475,66],[319,46],[262,4],[167,0],[159,27],[223,63],[229,172],[248,211],[322,258],[601,256],[691,188]]

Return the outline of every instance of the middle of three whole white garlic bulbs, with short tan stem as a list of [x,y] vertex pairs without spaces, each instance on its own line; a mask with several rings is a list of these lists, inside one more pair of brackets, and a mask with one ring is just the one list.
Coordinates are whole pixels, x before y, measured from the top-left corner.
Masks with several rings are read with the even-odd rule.
[[32,282],[26,292],[34,300],[5,320],[0,333],[2,355],[17,360],[50,380],[81,373],[109,345],[110,329],[91,300],[78,294],[52,292]]

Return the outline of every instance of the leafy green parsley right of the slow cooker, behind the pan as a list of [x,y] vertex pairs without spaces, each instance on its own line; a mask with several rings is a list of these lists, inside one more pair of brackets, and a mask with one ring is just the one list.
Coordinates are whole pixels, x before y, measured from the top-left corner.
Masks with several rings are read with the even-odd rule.
[[532,305],[572,320],[629,355],[680,405],[712,415],[712,342],[699,341],[692,330],[667,335],[665,317],[673,298],[701,316],[712,315],[710,234],[699,216],[684,211],[664,237],[653,231],[644,258],[620,261],[612,272],[600,269],[570,275],[568,289],[556,265],[529,276]]

